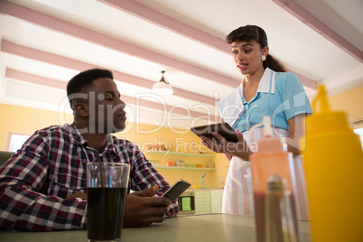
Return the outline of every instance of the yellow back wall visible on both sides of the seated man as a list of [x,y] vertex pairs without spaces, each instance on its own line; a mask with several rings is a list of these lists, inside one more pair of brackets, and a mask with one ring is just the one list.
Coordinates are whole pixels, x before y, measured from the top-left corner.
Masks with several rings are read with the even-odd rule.
[[[60,125],[66,120],[72,122],[73,116],[70,114],[59,114],[58,112],[34,109],[29,107],[18,107],[12,105],[0,104],[0,150],[5,150],[8,142],[9,133],[32,135],[37,129],[46,126]],[[184,134],[177,134],[184,133]],[[184,160],[185,163],[202,163],[204,167],[209,163],[210,158],[188,157],[188,156],[163,156],[161,154],[147,154],[146,146],[148,144],[166,144],[172,151],[189,152],[189,153],[209,153],[209,150],[200,145],[200,138],[191,132],[185,130],[172,131],[167,127],[158,128],[156,126],[136,125],[134,123],[126,124],[126,130],[116,134],[119,138],[125,138],[132,141],[140,147],[146,157],[150,160],[159,160],[159,164],[165,165],[169,159]],[[217,154],[214,158],[216,171],[205,172],[204,185],[207,188],[217,188],[219,177],[226,180],[228,161],[222,154]],[[185,171],[185,170],[165,170],[159,169],[164,178],[171,184],[179,179],[190,181],[192,185],[201,185],[202,171]]]

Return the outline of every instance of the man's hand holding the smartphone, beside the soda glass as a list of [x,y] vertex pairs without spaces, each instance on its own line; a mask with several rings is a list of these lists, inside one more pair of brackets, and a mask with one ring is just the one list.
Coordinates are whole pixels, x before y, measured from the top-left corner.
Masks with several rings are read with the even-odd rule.
[[148,190],[126,195],[124,227],[145,227],[163,222],[172,202],[166,197],[154,197],[158,188],[154,185]]

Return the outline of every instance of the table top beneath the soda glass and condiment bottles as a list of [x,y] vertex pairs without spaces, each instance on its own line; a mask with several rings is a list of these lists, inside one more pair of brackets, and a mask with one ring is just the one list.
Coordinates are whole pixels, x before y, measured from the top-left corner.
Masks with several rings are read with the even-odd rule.
[[[310,223],[299,222],[302,242],[309,242]],[[2,242],[85,242],[86,230],[58,232],[2,232]],[[123,228],[122,242],[244,241],[255,242],[255,218],[227,214],[177,216],[145,228]]]

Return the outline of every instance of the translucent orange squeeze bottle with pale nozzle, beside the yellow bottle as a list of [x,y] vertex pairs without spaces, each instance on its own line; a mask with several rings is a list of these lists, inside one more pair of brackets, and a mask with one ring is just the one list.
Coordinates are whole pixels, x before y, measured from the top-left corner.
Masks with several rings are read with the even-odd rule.
[[[273,137],[270,116],[264,116],[263,123],[250,129],[250,133],[257,126],[264,126],[265,137],[257,140],[257,152],[250,155],[252,188],[254,193],[256,236],[257,242],[265,242],[265,191],[268,178],[277,173],[286,180],[286,189],[291,191],[290,199],[293,207],[293,219],[296,217],[293,184],[296,177],[293,168],[293,154],[284,150],[284,144],[279,137]],[[295,226],[295,234],[298,227]]]

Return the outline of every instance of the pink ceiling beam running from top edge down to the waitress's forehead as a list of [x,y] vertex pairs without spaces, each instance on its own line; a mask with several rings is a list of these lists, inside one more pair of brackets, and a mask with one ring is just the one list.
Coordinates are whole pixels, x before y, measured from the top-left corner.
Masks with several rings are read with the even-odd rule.
[[202,32],[191,25],[182,23],[169,17],[168,15],[162,14],[155,11],[153,8],[146,5],[137,3],[134,0],[98,0],[101,3],[115,7],[118,10],[132,14],[138,18],[144,19],[149,23],[153,23],[164,29],[171,31],[172,33],[178,33],[188,39],[195,42],[200,42],[203,45],[209,46],[217,51],[221,51],[228,55],[231,54],[230,46],[227,42],[213,36],[209,33]]

